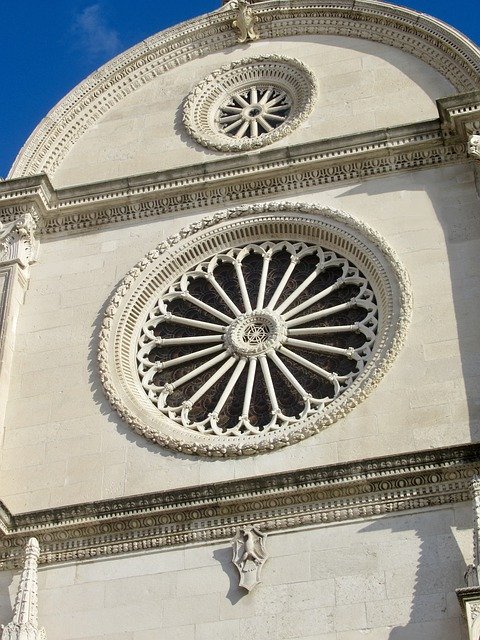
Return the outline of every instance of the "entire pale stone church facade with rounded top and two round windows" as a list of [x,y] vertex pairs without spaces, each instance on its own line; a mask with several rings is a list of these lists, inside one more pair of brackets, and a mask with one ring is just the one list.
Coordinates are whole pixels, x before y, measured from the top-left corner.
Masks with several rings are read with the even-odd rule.
[[[233,84],[189,132],[219,69]],[[376,0],[232,0],[55,107],[0,183],[2,638],[478,640],[479,139],[478,49]],[[229,251],[266,242],[297,243],[290,274],[307,256],[343,275],[301,298],[268,284],[268,255],[252,287]],[[212,306],[212,256],[244,307],[232,278]],[[187,272],[210,274],[203,294]],[[361,295],[315,307],[312,335],[347,342],[297,354],[302,323],[251,300],[308,310],[345,283]],[[197,312],[165,338],[177,298]],[[368,324],[344,314],[359,305]],[[138,356],[145,335],[173,364]],[[205,361],[175,408],[193,369],[162,376],[191,344],[224,369]],[[298,366],[335,387],[330,413]]]

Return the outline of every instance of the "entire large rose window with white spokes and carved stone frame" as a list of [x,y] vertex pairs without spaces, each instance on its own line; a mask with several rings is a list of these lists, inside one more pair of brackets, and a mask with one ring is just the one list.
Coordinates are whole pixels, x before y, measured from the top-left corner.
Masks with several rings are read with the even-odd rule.
[[[310,285],[318,309],[301,297]],[[182,229],[128,273],[100,332],[100,376],[120,416],[162,446],[263,453],[318,433],[371,392],[403,344],[411,304],[391,248],[348,214],[231,209]],[[293,415],[284,393],[297,399]]]

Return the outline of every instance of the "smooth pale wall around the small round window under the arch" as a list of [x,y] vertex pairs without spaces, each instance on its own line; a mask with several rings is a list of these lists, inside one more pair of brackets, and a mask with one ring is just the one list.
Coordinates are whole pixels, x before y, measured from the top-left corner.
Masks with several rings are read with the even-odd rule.
[[[315,74],[314,112],[288,145],[438,117],[435,100],[455,92],[426,63],[379,43],[339,36],[263,39],[171,70],[114,106],[62,161],[57,187],[164,171],[226,157],[197,144],[182,125],[182,103],[212,71],[262,55],[298,58]],[[282,147],[278,141],[269,148]],[[253,152],[255,153],[255,152]],[[252,155],[252,154],[251,154]],[[228,154],[227,154],[228,157]]]

